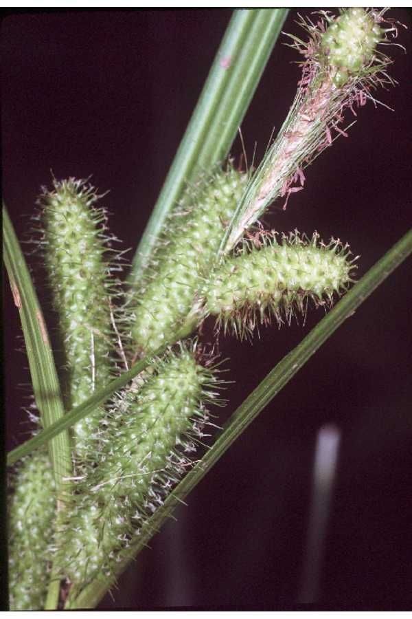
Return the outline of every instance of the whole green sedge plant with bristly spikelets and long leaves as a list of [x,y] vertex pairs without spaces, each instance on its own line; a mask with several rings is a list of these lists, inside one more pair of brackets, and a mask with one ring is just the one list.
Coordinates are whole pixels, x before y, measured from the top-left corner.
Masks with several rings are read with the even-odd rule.
[[[5,213],[6,267],[26,343],[35,344],[29,362],[39,411],[34,437],[9,455],[10,464],[21,460],[10,479],[12,609],[96,605],[176,503],[411,252],[409,233],[354,285],[358,260],[347,243],[260,221],[278,197],[286,206],[303,188],[304,167],[333,133],[345,133],[345,110],[364,107],[372,89],[391,83],[380,46],[397,25],[387,12],[320,12],[303,23],[306,39],[290,35],[304,60],[282,128],[256,170],[236,166],[231,142],[285,17],[235,12],[125,285],[104,196],[74,178],[43,188],[36,234],[64,358],[57,373]],[[227,93],[242,105],[232,98],[229,106]],[[231,129],[224,135],[214,125],[221,118]],[[281,327],[319,305],[329,310],[340,296],[202,455],[205,436],[218,434],[214,406],[225,405],[225,365],[205,341],[207,318],[214,316],[215,336],[253,339],[261,325]],[[45,359],[51,371],[39,373]],[[54,400],[45,404],[42,389],[56,374]]]

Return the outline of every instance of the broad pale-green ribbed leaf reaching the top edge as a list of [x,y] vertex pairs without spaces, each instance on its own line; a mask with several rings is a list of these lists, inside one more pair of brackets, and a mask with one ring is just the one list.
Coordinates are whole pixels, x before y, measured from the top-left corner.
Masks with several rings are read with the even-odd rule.
[[236,10],[137,248],[128,283],[139,279],[187,182],[229,153],[288,9]]

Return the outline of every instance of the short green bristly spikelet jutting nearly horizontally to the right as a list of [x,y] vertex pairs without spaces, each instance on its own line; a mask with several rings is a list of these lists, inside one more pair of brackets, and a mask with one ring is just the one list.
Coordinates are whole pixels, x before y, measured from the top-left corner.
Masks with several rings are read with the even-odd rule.
[[266,233],[253,245],[245,241],[211,277],[205,310],[240,336],[272,316],[280,325],[295,310],[304,312],[308,298],[323,305],[347,289],[353,268],[349,255],[347,246],[333,239],[325,245],[317,234],[308,240],[293,232],[278,242]]

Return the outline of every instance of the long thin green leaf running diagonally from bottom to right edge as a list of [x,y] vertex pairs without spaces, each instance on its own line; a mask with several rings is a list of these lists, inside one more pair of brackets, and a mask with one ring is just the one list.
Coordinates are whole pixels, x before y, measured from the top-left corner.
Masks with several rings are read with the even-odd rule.
[[246,400],[233,413],[222,433],[207,451],[201,461],[187,473],[165,503],[146,523],[139,541],[130,546],[122,561],[118,564],[115,576],[99,576],[73,600],[68,600],[67,609],[93,608],[98,605],[106,591],[116,578],[126,569],[133,558],[147,545],[152,535],[159,530],[174,508],[203,479],[207,471],[222,457],[231,444],[242,434],[264,407],[279,393],[293,376],[304,366],[306,361],[336,331],[336,329],[354,314],[354,311],[412,253],[412,229],[398,241],[364,276],[354,285],[350,292],[336,304],[334,309],[284,357],[252,391]]

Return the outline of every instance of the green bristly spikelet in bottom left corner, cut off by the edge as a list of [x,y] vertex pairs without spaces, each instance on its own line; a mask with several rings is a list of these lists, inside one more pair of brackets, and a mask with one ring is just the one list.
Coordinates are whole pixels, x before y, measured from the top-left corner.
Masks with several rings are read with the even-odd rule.
[[9,592],[11,610],[44,608],[49,581],[56,493],[47,453],[24,459],[9,503]]

